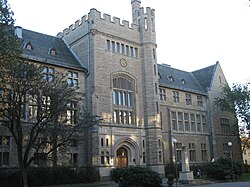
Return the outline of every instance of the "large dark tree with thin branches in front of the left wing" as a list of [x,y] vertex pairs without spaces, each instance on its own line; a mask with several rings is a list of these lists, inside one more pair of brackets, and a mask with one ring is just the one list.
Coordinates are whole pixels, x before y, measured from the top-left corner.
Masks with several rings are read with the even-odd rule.
[[0,130],[14,140],[21,184],[36,160],[52,160],[72,138],[96,124],[83,109],[82,95],[57,72],[43,79],[43,67],[22,58],[13,12],[0,0]]

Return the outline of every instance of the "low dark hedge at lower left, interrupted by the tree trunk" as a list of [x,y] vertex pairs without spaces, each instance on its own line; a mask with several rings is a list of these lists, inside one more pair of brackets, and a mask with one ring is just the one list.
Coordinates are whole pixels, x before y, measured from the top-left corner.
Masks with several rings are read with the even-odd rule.
[[[92,166],[38,167],[28,170],[29,186],[91,183],[99,180],[99,171]],[[17,168],[0,168],[0,186],[19,186],[19,170]]]

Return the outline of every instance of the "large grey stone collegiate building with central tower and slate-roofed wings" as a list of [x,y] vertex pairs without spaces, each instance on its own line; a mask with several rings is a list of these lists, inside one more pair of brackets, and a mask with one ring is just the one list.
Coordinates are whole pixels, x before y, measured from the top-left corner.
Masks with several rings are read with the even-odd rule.
[[99,166],[102,177],[114,167],[136,165],[164,175],[164,164],[173,160],[173,138],[177,159],[180,145],[196,164],[227,155],[231,141],[241,160],[237,120],[213,104],[226,83],[220,64],[194,72],[158,64],[155,10],[140,4],[131,0],[131,25],[91,9],[56,37],[17,28],[24,57],[71,72],[86,110],[100,117],[72,149],[73,163]]

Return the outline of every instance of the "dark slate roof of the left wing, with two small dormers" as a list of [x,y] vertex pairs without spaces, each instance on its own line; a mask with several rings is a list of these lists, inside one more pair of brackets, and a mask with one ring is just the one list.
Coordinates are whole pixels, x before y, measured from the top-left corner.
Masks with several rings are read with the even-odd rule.
[[[22,30],[22,37],[23,46],[30,42],[33,47],[32,50],[23,49],[23,56],[25,58],[66,68],[86,69],[72,54],[62,38],[26,29]],[[51,49],[56,50],[56,55],[49,54]]]

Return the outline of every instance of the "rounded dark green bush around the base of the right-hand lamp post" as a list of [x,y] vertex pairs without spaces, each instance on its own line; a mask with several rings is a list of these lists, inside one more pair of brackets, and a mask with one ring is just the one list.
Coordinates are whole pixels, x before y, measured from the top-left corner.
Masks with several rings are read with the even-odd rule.
[[[241,165],[239,163],[233,163],[234,175],[241,175]],[[225,180],[228,177],[232,177],[232,163],[229,159],[220,158],[214,162],[210,162],[206,166],[206,172],[208,178]]]

